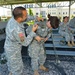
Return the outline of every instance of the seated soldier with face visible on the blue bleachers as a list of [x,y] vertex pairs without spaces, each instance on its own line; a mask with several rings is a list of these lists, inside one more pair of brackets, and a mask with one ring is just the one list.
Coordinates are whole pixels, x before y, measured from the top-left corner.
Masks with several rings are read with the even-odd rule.
[[[72,46],[75,46],[74,37],[72,34],[72,30],[68,25],[69,25],[68,17],[65,16],[65,17],[63,17],[63,22],[61,22],[59,25],[59,34],[61,36],[65,37],[65,40],[66,40],[68,46],[72,47]],[[70,41],[71,41],[71,43],[70,43]]]

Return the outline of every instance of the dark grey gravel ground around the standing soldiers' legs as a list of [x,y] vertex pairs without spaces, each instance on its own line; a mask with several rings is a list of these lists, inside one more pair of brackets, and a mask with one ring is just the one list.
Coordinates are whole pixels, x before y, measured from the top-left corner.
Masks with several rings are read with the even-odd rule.
[[[39,70],[40,75],[75,75],[75,57],[60,56],[60,63],[57,64],[55,56],[48,56],[45,66],[49,72]],[[24,72],[23,75],[33,75],[30,58],[23,57]],[[0,75],[8,75],[7,65],[0,64]]]

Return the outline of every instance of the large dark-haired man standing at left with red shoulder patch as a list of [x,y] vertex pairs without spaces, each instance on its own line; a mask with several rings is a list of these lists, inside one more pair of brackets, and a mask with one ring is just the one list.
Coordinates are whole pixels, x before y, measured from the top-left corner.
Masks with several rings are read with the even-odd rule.
[[[13,17],[9,20],[6,27],[5,53],[7,57],[9,75],[22,75],[23,62],[21,57],[22,45],[28,46],[33,37],[36,36],[35,31],[38,26],[33,26],[31,32],[26,37],[24,33],[23,21],[27,19],[27,11],[23,7],[16,7],[13,12]],[[38,36],[36,40],[41,40]]]

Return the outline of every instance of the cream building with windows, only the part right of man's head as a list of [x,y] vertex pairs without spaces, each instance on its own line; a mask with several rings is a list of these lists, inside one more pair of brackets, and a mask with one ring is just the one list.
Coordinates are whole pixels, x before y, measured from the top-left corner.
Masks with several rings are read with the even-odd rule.
[[[28,9],[28,8],[27,8]],[[40,8],[37,4],[33,4],[32,8],[34,15],[38,16],[41,14],[43,14],[44,17],[47,17],[47,14],[49,13],[51,16],[57,16],[59,18],[62,18],[64,16],[69,16],[69,7],[56,7],[56,5],[54,6],[44,6],[43,8]],[[73,18],[75,16],[75,8],[71,8],[70,10],[70,18]]]

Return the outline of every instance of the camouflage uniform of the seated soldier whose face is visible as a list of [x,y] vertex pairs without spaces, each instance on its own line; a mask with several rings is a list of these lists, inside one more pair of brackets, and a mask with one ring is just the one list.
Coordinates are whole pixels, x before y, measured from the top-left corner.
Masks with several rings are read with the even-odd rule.
[[68,25],[69,25],[69,22],[66,24],[64,22],[61,22],[59,25],[59,34],[65,37],[66,42],[74,41],[72,30],[69,28]]

